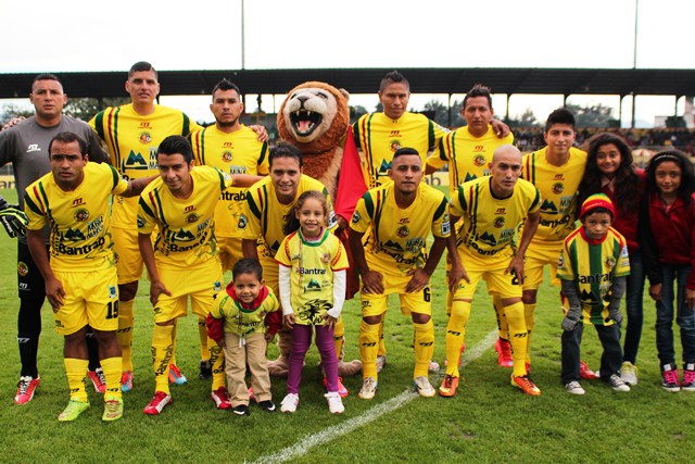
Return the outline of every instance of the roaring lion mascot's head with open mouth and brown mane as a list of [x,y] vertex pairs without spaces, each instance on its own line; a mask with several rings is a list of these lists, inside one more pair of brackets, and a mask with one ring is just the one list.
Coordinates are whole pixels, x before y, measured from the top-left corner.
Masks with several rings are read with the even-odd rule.
[[308,81],[294,87],[278,113],[280,138],[304,154],[333,149],[349,126],[348,92],[326,83]]

